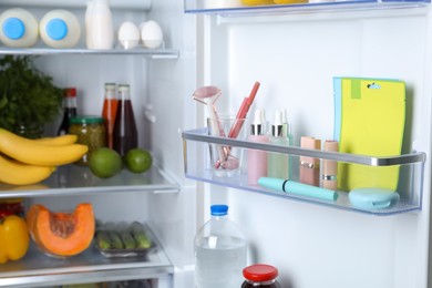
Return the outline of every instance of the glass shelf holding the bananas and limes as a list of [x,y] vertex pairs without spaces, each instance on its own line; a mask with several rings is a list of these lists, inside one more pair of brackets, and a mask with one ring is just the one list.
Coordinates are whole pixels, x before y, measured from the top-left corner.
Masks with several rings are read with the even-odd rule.
[[123,168],[120,174],[103,179],[94,176],[89,167],[73,164],[58,167],[49,178],[39,184],[23,186],[0,184],[0,198],[88,195],[110,192],[178,193],[179,185],[156,166],[143,174],[131,173]]

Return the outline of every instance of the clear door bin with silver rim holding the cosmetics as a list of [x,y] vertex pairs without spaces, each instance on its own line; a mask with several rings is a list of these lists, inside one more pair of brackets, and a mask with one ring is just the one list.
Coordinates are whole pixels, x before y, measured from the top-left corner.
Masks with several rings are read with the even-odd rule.
[[[263,193],[271,196],[278,196],[286,199],[318,204],[322,206],[372,214],[378,216],[394,215],[400,213],[420,210],[422,204],[422,183],[424,173],[424,153],[412,153],[398,156],[367,156],[354,155],[337,152],[325,152],[318,150],[308,150],[300,147],[286,147],[266,143],[255,143],[245,140],[224,138],[207,135],[207,128],[198,128],[183,132],[184,143],[184,165],[185,175],[188,178],[202,181],[210,184],[222,185],[225,187],[245,189],[255,193]],[[376,168],[399,167],[399,178],[397,192],[400,199],[394,205],[382,209],[364,209],[359,206],[353,206],[349,198],[349,192],[337,191],[337,200],[325,200],[315,197],[296,195],[292,193],[279,192],[270,188],[265,188],[258,185],[248,185],[246,168],[243,167],[239,176],[220,177],[215,176],[209,165],[208,143],[220,144],[224,146],[236,146],[244,150],[244,157],[247,150],[261,150],[268,153],[288,154],[291,163],[294,182],[299,182],[298,167],[299,157],[308,156],[322,160],[336,161],[339,163],[348,163],[352,165],[366,165]],[[374,183],[368,183],[364,187],[374,187]]]

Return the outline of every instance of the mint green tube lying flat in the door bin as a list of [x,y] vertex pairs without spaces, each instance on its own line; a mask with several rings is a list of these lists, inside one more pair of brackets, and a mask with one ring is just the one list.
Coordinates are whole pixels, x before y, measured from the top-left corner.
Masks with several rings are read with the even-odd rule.
[[319,198],[322,200],[332,200],[338,199],[338,193],[336,191],[330,191],[308,184],[302,184],[294,181],[272,178],[272,177],[260,177],[258,184],[263,187],[292,193],[296,195],[307,196]]

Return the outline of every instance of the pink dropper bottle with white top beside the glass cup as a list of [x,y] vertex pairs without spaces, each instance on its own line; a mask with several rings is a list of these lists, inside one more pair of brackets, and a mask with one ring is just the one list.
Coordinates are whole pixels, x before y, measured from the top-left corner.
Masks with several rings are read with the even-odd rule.
[[[268,143],[268,136],[265,134],[266,121],[264,119],[264,110],[257,109],[254,115],[254,122],[250,124],[250,135],[248,140],[251,142]],[[267,176],[267,152],[261,150],[247,151],[247,175],[249,185],[258,185],[260,177]]]

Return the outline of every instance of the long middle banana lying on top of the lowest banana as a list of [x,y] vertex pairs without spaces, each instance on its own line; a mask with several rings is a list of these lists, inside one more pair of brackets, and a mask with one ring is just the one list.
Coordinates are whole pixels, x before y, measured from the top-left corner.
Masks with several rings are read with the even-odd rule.
[[25,164],[59,166],[80,160],[89,147],[81,144],[43,145],[0,128],[0,152]]

